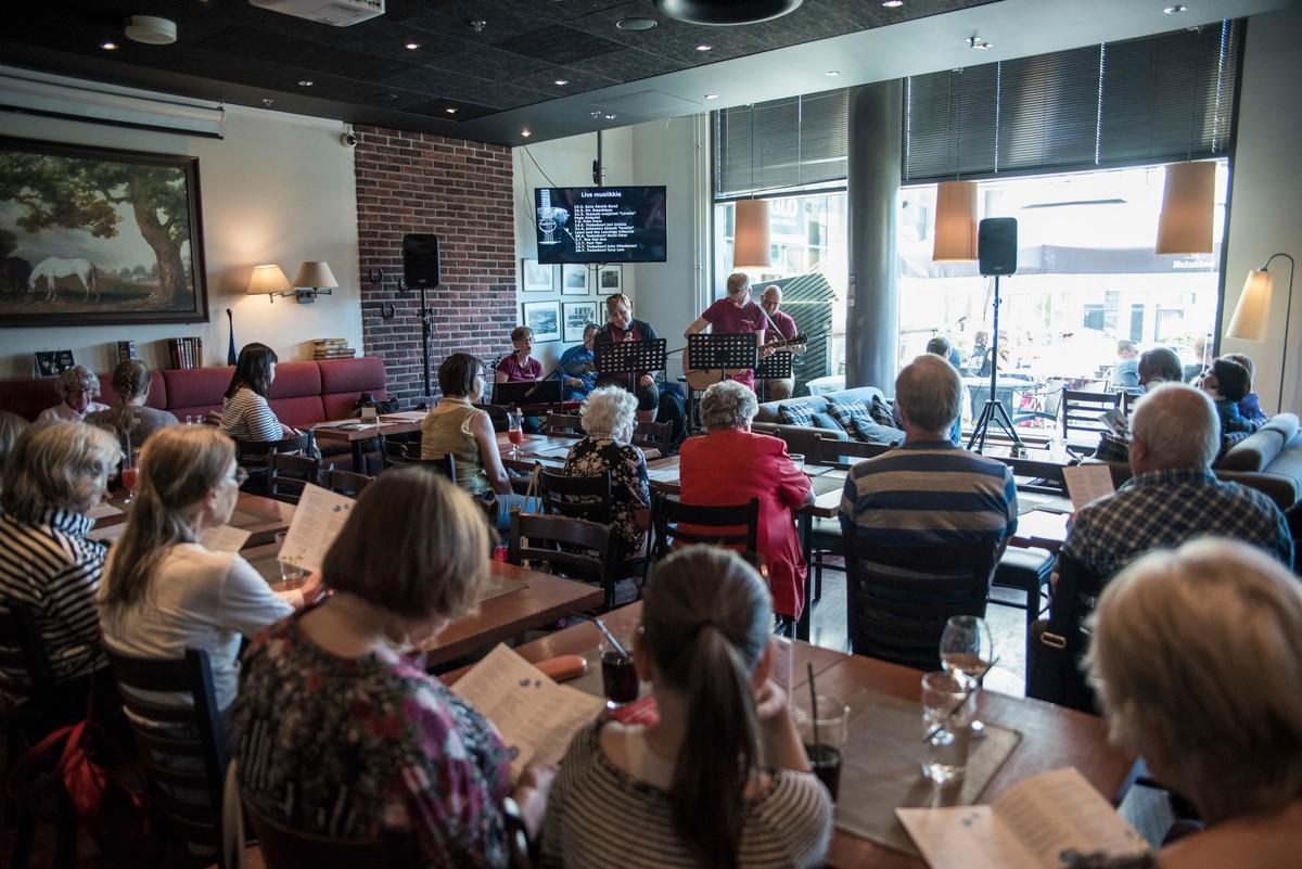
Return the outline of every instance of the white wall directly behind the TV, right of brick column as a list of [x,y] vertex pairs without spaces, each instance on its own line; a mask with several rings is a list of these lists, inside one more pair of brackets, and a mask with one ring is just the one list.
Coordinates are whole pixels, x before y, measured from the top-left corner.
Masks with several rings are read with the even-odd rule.
[[[602,133],[602,167],[604,169],[605,186],[620,186],[634,182],[633,180],[633,127],[618,127]],[[566,139],[553,139],[514,148],[514,199],[516,199],[516,286],[523,287],[523,274],[521,274],[521,260],[538,259],[538,232],[534,229],[534,189],[536,187],[591,187],[592,160],[596,159],[596,134],[586,133],[573,135]],[[560,268],[559,265],[555,268]],[[624,267],[624,293],[629,298],[637,298],[635,278],[633,267]],[[604,297],[596,295],[596,289],[591,285],[586,297],[561,295],[560,293],[525,293],[523,289],[517,297],[525,302],[598,302]],[[635,304],[635,302],[634,302]],[[564,307],[561,308],[564,316]],[[519,315],[523,323],[523,314]],[[575,342],[551,341],[535,343],[534,355],[542,360],[544,368],[551,368],[560,359],[568,347]],[[503,346],[509,349],[509,341],[503,338]]]

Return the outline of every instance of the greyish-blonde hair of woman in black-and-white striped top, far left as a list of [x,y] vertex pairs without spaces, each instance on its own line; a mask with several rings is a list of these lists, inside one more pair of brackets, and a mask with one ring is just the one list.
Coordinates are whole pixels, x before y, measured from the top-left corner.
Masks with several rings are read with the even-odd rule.
[[7,514],[38,518],[47,510],[86,513],[108,488],[121,459],[117,438],[86,423],[29,427],[9,453],[0,503]]

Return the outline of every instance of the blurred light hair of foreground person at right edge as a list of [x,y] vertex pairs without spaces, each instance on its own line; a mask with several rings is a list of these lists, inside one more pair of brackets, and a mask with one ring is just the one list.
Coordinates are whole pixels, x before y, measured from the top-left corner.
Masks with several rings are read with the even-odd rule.
[[1090,667],[1111,739],[1202,818],[1302,794],[1302,585],[1266,552],[1203,537],[1144,555],[1103,592]]

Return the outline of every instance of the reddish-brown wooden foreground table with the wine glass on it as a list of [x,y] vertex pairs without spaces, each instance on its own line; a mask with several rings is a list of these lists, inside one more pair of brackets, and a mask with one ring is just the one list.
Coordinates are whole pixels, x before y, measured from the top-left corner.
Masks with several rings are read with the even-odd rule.
[[[603,621],[617,637],[626,637],[637,628],[641,615],[642,604],[638,602],[613,610]],[[596,627],[583,623],[526,643],[516,652],[531,662],[561,654],[592,660],[599,639]],[[809,667],[812,667],[819,693],[852,697],[868,688],[909,702],[918,702],[921,699],[919,670],[824,649],[801,640],[794,643],[793,657],[793,692],[809,684]],[[447,684],[454,684],[466,670],[469,667],[453,670],[441,678]],[[991,689],[976,693],[976,715],[1021,734],[1021,742],[979,795],[982,803],[999,799],[1009,787],[1031,775],[1061,766],[1074,766],[1100,794],[1115,801],[1120,800],[1130,782],[1134,758],[1108,744],[1107,726],[1101,718]],[[863,715],[850,722],[852,732],[857,727],[872,726],[874,722]],[[924,869],[927,864],[921,857],[893,851],[837,827],[827,865],[833,869]]]

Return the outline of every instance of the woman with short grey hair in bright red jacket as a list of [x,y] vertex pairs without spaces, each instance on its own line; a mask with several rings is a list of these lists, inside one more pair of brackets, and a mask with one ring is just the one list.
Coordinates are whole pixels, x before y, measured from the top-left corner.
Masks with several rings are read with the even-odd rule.
[[805,604],[805,558],[793,510],[814,501],[805,472],[777,437],[755,434],[755,393],[736,381],[717,382],[700,397],[707,433],[689,437],[678,451],[684,503],[746,503],[759,498],[759,554],[768,563],[773,611],[799,618]]

